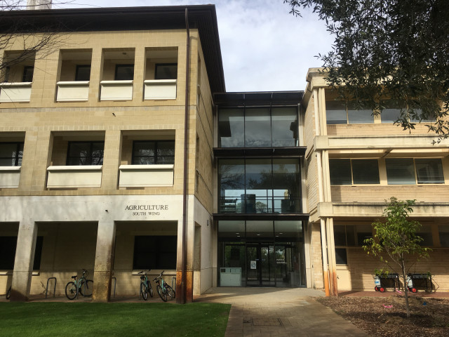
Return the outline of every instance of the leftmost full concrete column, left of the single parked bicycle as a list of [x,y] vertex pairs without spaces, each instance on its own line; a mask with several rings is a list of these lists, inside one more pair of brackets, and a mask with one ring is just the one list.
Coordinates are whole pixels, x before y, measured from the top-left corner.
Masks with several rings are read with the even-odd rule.
[[36,223],[31,220],[22,220],[19,225],[17,248],[15,249],[13,284],[11,286],[12,301],[25,301],[28,299],[33,275],[36,237]]

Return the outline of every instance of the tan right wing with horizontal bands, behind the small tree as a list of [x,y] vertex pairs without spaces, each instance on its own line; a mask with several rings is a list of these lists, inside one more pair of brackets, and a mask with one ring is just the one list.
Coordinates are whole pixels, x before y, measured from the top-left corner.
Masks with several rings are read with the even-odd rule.
[[319,69],[309,69],[307,82],[304,169],[314,286],[328,278],[331,294],[374,289],[372,275],[382,264],[361,246],[373,237],[371,223],[382,216],[385,200],[396,197],[416,199],[413,219],[422,223],[422,245],[433,250],[410,272],[431,272],[434,290],[448,291],[448,142],[434,144],[424,121],[410,134],[402,131],[393,124],[397,107],[373,117],[337,101]]

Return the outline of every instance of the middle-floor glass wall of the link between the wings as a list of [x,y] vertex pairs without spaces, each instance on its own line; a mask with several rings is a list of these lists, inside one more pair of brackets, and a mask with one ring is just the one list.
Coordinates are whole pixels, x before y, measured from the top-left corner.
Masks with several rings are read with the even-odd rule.
[[300,213],[299,159],[220,159],[220,213]]

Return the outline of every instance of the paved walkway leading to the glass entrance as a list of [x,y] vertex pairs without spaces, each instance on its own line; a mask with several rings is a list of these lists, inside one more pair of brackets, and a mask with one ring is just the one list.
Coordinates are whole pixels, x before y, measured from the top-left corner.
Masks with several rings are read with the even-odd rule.
[[321,305],[322,291],[297,288],[213,288],[196,302],[232,304],[226,337],[368,336]]

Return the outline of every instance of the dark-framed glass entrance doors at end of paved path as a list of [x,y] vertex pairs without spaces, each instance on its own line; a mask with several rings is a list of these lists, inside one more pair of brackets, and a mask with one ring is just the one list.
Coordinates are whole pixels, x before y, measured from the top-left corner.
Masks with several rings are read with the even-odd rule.
[[274,246],[251,243],[246,246],[246,285],[275,286]]

